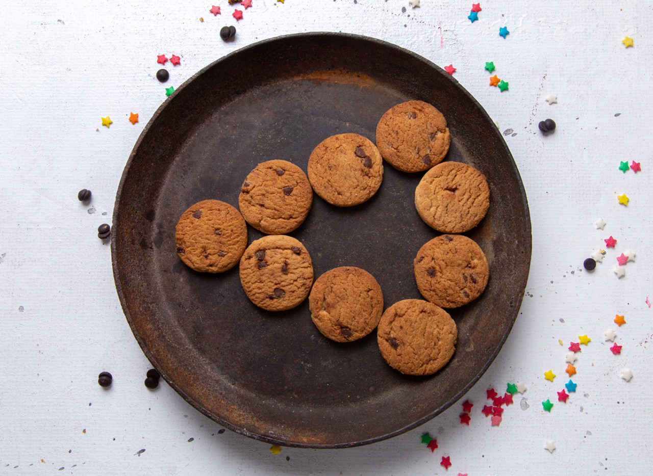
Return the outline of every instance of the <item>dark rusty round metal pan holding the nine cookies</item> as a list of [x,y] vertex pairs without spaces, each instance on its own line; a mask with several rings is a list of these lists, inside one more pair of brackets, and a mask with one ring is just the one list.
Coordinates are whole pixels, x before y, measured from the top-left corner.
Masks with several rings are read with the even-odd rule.
[[[428,378],[383,361],[376,333],[337,344],[315,329],[308,300],[287,312],[252,305],[238,267],[195,273],[179,260],[174,228],[191,204],[238,207],[240,185],[264,160],[306,170],[320,141],[357,132],[375,141],[381,115],[420,99],[444,113],[447,160],[490,185],[490,210],[466,233],[486,253],[490,282],[454,310],[458,345]],[[385,164],[372,200],[339,208],[315,195],[291,235],[315,276],[352,265],[375,276],[385,306],[420,298],[417,250],[439,233],[415,211],[421,173]],[[485,372],[517,317],[531,256],[526,194],[503,138],[483,108],[426,59],[371,38],[306,33],[253,44],[204,68],[152,117],[123,173],[112,261],[127,321],[151,363],[204,415],[251,438],[297,447],[351,447],[390,438],[438,415]],[[248,227],[249,242],[261,233]]]

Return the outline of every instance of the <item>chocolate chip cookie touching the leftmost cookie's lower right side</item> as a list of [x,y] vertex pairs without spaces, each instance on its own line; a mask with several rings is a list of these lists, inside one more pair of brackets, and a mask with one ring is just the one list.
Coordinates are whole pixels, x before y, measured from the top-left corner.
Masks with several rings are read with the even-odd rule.
[[240,258],[240,284],[255,305],[282,311],[299,305],[313,284],[313,262],[304,245],[286,235],[268,235]]

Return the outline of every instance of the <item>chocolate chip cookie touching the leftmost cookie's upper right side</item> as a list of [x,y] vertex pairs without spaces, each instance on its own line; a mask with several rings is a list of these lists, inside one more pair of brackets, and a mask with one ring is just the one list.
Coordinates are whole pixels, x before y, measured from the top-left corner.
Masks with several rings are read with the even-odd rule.
[[268,160],[249,172],[238,205],[247,223],[270,235],[290,233],[306,219],[313,189],[306,174],[286,160]]

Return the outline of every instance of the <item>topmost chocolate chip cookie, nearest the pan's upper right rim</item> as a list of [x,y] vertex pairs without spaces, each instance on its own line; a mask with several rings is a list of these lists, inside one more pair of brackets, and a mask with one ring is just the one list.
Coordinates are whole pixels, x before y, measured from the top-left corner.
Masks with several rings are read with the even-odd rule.
[[376,146],[390,165],[419,172],[439,164],[449,151],[447,120],[424,101],[408,101],[390,108],[376,126]]

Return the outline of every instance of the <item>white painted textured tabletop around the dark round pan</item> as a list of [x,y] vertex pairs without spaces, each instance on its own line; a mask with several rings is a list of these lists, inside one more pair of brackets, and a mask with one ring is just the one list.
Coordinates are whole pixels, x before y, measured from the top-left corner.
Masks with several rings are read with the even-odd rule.
[[[650,473],[650,5],[481,0],[479,21],[470,23],[471,0],[422,0],[419,8],[407,0],[253,0],[236,23],[234,8],[217,3],[223,13],[214,17],[211,3],[198,0],[0,1],[0,473]],[[238,33],[225,43],[218,31],[230,24]],[[454,404],[374,445],[274,455],[268,444],[218,434],[165,382],[153,392],[143,385],[149,364],[119,306],[109,246],[96,235],[110,222],[127,157],[165,86],[247,44],[302,31],[368,35],[442,67],[453,63],[454,78],[500,130],[517,133],[505,140],[530,205],[530,278],[503,350],[466,397],[475,404],[469,427]],[[634,48],[624,48],[626,35]],[[167,64],[165,86],[154,77],[162,53],[182,58]],[[486,61],[509,91],[488,87]],[[544,101],[549,94],[558,104]],[[136,125],[130,112],[139,113]],[[106,115],[110,128],[101,126]],[[547,117],[558,128],[543,137],[537,123]],[[622,173],[620,160],[641,162],[643,171]],[[90,205],[77,200],[81,188],[93,191]],[[627,207],[616,198],[624,192]],[[594,226],[599,218],[605,231]],[[616,249],[592,275],[581,271],[610,235]],[[629,248],[637,260],[618,279],[615,258]],[[615,314],[628,323],[616,327]],[[603,342],[607,329],[617,331],[621,355]],[[578,392],[558,403],[566,348],[582,334],[592,342],[577,354]],[[629,382],[620,378],[624,367],[633,371]],[[554,383],[544,379],[549,369]],[[97,385],[102,370],[114,376],[108,391]],[[485,390],[518,380],[530,407],[522,410],[517,395],[502,424],[490,427],[480,413]],[[551,413],[542,409],[547,398]],[[426,431],[438,438],[435,453],[419,443]],[[546,439],[555,441],[552,454]],[[441,456],[451,457],[447,471]]]

